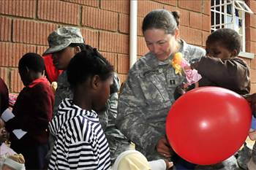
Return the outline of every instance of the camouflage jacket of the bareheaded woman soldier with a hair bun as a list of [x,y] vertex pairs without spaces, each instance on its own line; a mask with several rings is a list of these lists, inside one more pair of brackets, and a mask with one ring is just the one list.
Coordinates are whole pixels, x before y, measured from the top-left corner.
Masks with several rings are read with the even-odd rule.
[[[189,62],[205,55],[205,50],[183,40],[179,52]],[[175,100],[173,92],[185,79],[170,65],[172,58],[158,61],[152,53],[140,58],[129,70],[118,100],[116,125],[148,161],[160,156],[155,147],[165,136],[165,118]]]

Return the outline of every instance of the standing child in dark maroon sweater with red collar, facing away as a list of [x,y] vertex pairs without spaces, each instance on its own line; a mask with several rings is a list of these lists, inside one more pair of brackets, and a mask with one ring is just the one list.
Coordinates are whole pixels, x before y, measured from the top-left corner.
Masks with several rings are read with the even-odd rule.
[[[43,75],[44,61],[36,53],[20,58],[18,71],[25,86],[12,109],[13,117],[6,122],[11,148],[23,154],[27,169],[42,169],[48,152],[48,122],[53,114],[53,90]],[[23,136],[15,136],[21,129]],[[20,138],[21,137],[21,138]]]

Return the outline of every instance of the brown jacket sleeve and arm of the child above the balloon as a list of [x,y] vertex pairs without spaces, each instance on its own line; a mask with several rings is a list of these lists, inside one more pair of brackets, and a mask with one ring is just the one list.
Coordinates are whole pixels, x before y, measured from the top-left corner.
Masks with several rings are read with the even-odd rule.
[[195,66],[202,77],[223,88],[233,87],[244,90],[249,86],[249,68],[240,58],[221,60],[203,57],[198,61],[197,66],[196,64],[192,66]]

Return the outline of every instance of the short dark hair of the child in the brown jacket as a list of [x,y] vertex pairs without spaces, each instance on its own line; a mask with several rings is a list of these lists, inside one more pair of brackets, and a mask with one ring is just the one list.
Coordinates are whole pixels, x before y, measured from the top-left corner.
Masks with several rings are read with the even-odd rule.
[[227,50],[236,50],[237,53],[240,53],[241,39],[239,34],[233,29],[221,28],[211,33],[206,40],[206,45],[214,42],[220,42]]

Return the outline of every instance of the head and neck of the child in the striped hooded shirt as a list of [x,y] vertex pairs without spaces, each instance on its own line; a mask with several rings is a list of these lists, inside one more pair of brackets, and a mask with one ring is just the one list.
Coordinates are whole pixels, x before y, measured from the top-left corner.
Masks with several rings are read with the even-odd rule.
[[96,49],[86,45],[86,50],[77,53],[67,66],[67,80],[74,96],[76,92],[91,101],[92,109],[102,111],[113,83],[113,66]]

